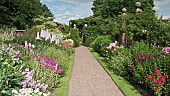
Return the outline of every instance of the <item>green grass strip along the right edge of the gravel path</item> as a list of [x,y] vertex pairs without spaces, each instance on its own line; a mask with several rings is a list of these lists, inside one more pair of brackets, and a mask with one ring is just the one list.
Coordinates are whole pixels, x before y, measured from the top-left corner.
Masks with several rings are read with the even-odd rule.
[[125,96],[142,96],[126,79],[116,75],[107,68],[108,61],[106,59],[101,57],[97,52],[94,52],[92,48],[89,49]]

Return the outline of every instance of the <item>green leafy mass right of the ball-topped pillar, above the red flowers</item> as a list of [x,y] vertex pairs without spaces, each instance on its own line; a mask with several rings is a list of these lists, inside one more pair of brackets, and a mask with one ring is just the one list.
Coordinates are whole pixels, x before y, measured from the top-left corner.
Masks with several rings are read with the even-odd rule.
[[133,41],[144,40],[152,45],[169,46],[169,28],[167,24],[149,12],[130,14],[127,22],[127,33],[132,35],[127,39],[132,38]]

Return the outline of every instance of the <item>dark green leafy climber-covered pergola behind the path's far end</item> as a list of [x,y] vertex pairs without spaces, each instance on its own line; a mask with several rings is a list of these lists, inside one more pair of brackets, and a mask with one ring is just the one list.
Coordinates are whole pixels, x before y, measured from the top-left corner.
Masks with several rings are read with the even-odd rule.
[[[84,19],[71,20],[73,26],[77,25],[77,28],[82,32],[83,43],[89,39],[96,39],[97,36],[102,35],[115,35],[119,33],[118,20],[115,18],[103,19],[102,17],[88,17]],[[84,25],[87,24],[85,27]]]

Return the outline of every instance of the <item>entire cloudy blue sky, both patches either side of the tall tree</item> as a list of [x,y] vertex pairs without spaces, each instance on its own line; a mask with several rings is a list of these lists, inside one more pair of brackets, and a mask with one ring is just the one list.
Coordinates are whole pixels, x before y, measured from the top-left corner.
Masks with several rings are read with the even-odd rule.
[[[170,17],[170,0],[154,0],[156,14]],[[70,19],[84,18],[93,15],[93,0],[41,0],[55,16],[55,21],[68,24]]]

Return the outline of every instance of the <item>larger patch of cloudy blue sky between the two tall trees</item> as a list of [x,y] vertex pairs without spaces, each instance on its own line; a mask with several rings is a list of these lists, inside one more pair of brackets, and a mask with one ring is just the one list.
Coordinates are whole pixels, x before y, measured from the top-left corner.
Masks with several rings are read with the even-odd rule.
[[[46,0],[42,0],[46,1]],[[79,19],[91,16],[93,0],[51,0],[53,3],[47,3],[55,16],[55,21],[68,24],[71,19]],[[55,2],[54,2],[55,1]]]

